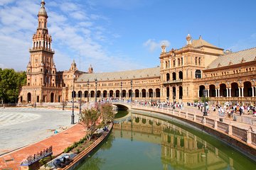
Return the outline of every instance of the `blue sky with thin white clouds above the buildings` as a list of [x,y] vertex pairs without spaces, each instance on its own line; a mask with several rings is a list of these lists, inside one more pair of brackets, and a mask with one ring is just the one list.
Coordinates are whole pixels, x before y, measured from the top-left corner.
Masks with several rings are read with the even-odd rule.
[[[95,72],[159,65],[161,44],[181,48],[186,35],[233,52],[256,47],[256,1],[46,1],[55,65]],[[0,67],[26,70],[41,0],[0,0]],[[81,59],[81,62],[80,62]]]

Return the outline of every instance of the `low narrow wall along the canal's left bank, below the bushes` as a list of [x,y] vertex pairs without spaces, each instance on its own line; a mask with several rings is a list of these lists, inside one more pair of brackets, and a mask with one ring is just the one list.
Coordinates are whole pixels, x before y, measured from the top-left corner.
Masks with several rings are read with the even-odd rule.
[[93,142],[89,147],[87,147],[85,150],[80,152],[74,159],[71,164],[68,166],[65,166],[63,170],[73,170],[77,166],[79,166],[82,162],[85,161],[85,159],[92,154],[92,152],[110,135],[110,132],[112,131],[113,123],[110,124],[108,131],[105,132],[102,136],[100,136],[95,142]]

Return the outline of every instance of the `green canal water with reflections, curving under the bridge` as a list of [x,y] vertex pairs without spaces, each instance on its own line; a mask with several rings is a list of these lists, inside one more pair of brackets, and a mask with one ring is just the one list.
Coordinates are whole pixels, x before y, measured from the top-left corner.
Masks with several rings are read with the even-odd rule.
[[[122,116],[125,120],[120,120]],[[171,118],[116,115],[110,137],[78,169],[238,169],[256,162],[201,130]]]

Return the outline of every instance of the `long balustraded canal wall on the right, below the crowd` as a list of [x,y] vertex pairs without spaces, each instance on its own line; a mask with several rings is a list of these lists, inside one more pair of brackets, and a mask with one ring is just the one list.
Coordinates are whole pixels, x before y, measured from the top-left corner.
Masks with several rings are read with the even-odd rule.
[[170,111],[166,109],[159,109],[156,111],[151,108],[140,106],[133,106],[132,110],[151,111],[174,117],[218,137],[223,142],[228,143],[228,145],[238,149],[247,157],[256,161],[256,134],[251,130],[241,129],[232,124],[223,123],[219,120],[213,120],[202,115],[183,111]]

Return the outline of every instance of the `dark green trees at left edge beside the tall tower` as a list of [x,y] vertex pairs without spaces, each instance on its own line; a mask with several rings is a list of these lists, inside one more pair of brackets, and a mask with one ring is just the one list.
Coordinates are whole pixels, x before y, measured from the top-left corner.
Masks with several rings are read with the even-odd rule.
[[0,98],[4,103],[16,103],[21,86],[26,84],[26,72],[0,69]]

